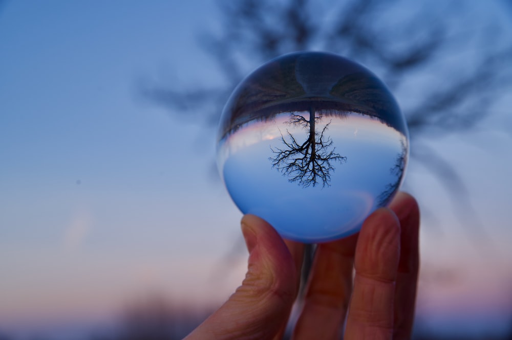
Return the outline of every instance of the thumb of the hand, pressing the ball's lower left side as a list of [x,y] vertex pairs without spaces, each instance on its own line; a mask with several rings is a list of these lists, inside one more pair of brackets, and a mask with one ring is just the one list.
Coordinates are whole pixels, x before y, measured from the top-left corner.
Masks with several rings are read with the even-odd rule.
[[272,339],[288,320],[297,273],[286,244],[270,224],[254,215],[242,219],[249,250],[242,285],[185,339]]

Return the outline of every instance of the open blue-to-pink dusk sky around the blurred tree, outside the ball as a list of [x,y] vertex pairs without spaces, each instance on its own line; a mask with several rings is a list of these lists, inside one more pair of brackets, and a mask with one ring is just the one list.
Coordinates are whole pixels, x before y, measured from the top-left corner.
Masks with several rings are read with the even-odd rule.
[[[243,245],[241,214],[211,179],[214,134],[137,92],[140,79],[222,81],[196,39],[217,18],[211,1],[1,9],[0,330],[111,320],[155,291],[217,304],[241,282],[243,251],[215,275]],[[424,207],[419,312],[436,327],[510,318],[510,103],[475,133],[430,142],[460,169],[491,245],[475,246],[420,164],[408,170]]]

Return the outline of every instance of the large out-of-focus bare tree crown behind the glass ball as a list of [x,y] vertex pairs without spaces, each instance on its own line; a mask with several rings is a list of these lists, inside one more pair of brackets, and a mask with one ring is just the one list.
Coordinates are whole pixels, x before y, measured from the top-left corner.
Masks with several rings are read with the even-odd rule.
[[512,43],[500,38],[504,22],[477,15],[478,4],[221,1],[221,29],[203,34],[200,43],[216,61],[227,86],[183,90],[153,83],[141,90],[172,112],[186,111],[187,116],[196,116],[196,122],[215,126],[232,89],[268,59],[301,50],[349,57],[390,87],[409,124],[411,156],[436,175],[455,209],[467,216],[464,222],[474,225],[464,184],[450,162],[426,141],[474,128],[510,89],[506,66]]

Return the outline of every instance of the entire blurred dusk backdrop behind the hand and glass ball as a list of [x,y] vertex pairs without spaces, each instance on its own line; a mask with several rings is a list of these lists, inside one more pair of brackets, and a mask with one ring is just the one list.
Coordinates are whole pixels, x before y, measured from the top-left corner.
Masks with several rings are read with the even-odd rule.
[[181,338],[241,283],[216,124],[264,61],[330,51],[406,115],[416,339],[512,338],[512,3],[0,0],[0,339]]

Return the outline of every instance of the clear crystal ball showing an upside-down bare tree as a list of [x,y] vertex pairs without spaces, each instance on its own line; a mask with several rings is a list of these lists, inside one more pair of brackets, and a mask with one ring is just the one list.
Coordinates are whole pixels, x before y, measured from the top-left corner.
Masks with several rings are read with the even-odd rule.
[[268,61],[233,91],[217,165],[244,214],[304,243],[352,235],[398,191],[407,123],[382,81],[354,61],[298,52]]

